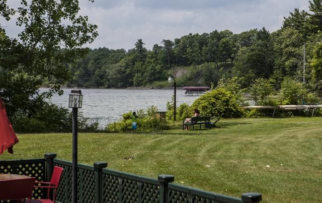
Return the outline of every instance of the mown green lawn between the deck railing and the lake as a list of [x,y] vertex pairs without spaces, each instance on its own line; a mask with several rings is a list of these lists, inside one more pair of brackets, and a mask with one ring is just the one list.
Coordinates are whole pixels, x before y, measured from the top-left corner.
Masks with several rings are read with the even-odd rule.
[[[20,134],[15,154],[71,160],[71,133]],[[107,161],[109,168],[240,197],[263,194],[263,202],[319,202],[322,197],[322,117],[223,119],[211,130],[162,133],[81,133],[78,162]],[[124,159],[133,157],[132,160]]]

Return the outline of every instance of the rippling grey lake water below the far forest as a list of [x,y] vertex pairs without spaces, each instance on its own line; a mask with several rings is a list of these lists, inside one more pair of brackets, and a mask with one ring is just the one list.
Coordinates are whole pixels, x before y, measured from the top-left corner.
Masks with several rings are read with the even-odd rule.
[[[47,89],[40,89],[40,92]],[[54,95],[50,101],[68,108],[68,94],[71,89],[63,89],[62,96]],[[100,127],[116,121],[123,113],[155,106],[159,111],[166,111],[167,101],[171,101],[173,89],[81,89],[83,108],[78,109],[83,115],[99,121]],[[191,105],[198,96],[186,96],[185,90],[177,89],[177,106],[182,103]]]

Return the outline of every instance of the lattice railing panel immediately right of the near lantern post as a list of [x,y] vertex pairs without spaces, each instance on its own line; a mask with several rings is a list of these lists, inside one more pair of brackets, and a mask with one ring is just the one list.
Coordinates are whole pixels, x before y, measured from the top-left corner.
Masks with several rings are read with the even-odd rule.
[[79,169],[77,172],[78,196],[77,202],[95,202],[95,172]]

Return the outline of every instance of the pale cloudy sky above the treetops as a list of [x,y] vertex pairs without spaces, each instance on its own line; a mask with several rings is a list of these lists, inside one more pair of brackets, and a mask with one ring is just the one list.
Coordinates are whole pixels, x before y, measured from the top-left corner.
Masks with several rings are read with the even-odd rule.
[[[19,2],[8,1],[13,6]],[[163,39],[189,33],[240,33],[262,27],[274,32],[295,8],[308,11],[308,0],[79,0],[79,7],[80,15],[98,25],[99,36],[86,46],[127,50],[138,39],[151,49]],[[0,20],[8,26],[9,36],[16,37],[19,28],[15,22]]]

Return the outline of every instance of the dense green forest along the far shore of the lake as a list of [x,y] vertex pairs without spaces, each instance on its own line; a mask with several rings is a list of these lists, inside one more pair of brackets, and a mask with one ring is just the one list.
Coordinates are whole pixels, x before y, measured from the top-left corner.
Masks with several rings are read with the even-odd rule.
[[282,28],[272,33],[264,27],[239,34],[214,30],[190,33],[174,41],[164,39],[160,44],[154,44],[152,50],[144,47],[142,39],[127,51],[106,47],[91,49],[86,58],[78,59],[71,67],[68,85],[164,87],[174,69],[179,86],[210,86],[211,83],[217,85],[222,77],[243,77],[242,87],[264,78],[271,79],[279,89],[284,77],[303,81],[304,75],[309,89],[320,90],[321,31],[321,1],[309,1],[308,11],[295,9],[290,12],[284,17]]

